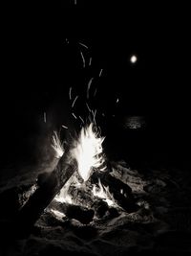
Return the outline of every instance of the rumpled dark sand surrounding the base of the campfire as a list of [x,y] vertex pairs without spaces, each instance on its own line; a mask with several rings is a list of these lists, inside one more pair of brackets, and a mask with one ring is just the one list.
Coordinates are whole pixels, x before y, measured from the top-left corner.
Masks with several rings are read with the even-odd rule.
[[[53,164],[47,165],[48,172]],[[116,256],[143,252],[191,252],[189,172],[180,169],[133,170],[125,161],[112,162],[112,166],[113,175],[132,188],[140,206],[138,211],[128,214],[120,209],[119,216],[115,218],[105,216],[84,225],[67,218],[59,220],[48,208],[36,222],[30,237],[7,239],[8,243],[2,243],[1,255]],[[32,170],[34,167],[26,167],[15,171],[14,176],[11,170],[1,174],[4,175],[1,196],[6,195],[4,199],[7,197],[10,204],[13,199],[11,201],[12,196],[8,192],[18,193],[19,188],[29,188],[45,166]],[[3,216],[8,209],[1,211]],[[5,216],[1,219],[5,220]]]

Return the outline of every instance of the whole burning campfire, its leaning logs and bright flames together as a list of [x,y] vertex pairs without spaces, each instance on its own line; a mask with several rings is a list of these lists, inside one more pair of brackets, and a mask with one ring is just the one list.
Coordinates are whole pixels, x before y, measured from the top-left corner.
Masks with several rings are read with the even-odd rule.
[[94,124],[82,128],[73,147],[64,152],[56,133],[53,149],[57,166],[51,174],[39,175],[37,189],[20,209],[16,226],[21,234],[29,234],[45,209],[57,217],[66,216],[81,223],[105,215],[117,216],[117,209],[133,212],[138,209],[132,190],[112,175],[106,161],[104,138]]

